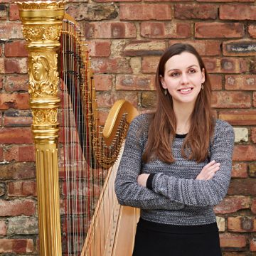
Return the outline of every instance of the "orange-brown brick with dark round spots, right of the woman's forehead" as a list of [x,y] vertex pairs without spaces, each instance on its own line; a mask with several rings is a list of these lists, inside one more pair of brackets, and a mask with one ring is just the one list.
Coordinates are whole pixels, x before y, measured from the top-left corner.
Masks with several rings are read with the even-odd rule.
[[208,73],[244,73],[247,62],[242,58],[203,58]]

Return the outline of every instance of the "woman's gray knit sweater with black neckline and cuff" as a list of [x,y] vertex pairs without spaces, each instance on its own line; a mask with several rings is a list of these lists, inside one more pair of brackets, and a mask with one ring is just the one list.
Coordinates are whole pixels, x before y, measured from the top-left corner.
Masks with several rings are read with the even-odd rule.
[[[149,114],[141,114],[130,124],[124,152],[117,171],[115,192],[121,205],[141,208],[144,220],[173,225],[203,225],[216,221],[213,206],[228,191],[234,145],[233,128],[216,120],[209,159],[197,164],[181,156],[183,138],[172,145],[175,162],[142,161],[149,129]],[[203,136],[203,134],[202,134]],[[196,180],[209,161],[220,163],[220,170],[208,181]],[[155,174],[151,189],[137,183],[139,174]]]

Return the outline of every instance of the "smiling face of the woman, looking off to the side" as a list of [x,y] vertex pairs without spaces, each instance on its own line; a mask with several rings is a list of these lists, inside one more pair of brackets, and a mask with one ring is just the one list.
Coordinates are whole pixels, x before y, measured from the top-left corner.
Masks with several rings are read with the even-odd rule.
[[169,58],[165,64],[164,77],[161,77],[162,87],[168,90],[174,105],[194,105],[204,81],[205,72],[201,70],[198,59],[187,52]]

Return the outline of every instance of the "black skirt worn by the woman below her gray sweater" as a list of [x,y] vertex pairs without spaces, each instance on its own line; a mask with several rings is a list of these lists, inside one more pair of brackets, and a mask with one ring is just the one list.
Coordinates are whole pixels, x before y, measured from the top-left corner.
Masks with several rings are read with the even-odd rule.
[[216,223],[166,225],[139,219],[133,256],[221,256]]

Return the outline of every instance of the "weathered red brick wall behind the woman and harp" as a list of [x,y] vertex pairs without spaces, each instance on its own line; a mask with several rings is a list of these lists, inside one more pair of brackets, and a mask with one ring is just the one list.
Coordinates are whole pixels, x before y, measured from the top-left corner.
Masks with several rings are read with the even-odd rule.
[[[254,0],[74,1],[90,41],[102,122],[125,98],[154,108],[164,49],[193,44],[213,83],[213,107],[235,127],[233,179],[215,207],[224,256],[256,255],[256,6]],[[27,52],[11,0],[0,1],[0,254],[38,254]]]

